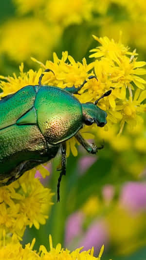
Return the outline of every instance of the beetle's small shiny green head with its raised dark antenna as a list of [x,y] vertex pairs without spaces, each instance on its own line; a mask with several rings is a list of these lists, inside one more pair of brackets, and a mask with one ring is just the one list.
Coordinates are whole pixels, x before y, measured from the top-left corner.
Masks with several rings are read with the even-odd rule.
[[102,95],[98,100],[94,103],[87,102],[82,104],[83,111],[83,121],[86,125],[91,125],[92,123],[96,123],[98,126],[103,127],[107,123],[107,113],[100,109],[97,106],[97,103],[100,99],[109,96],[111,90],[107,91],[104,95]]

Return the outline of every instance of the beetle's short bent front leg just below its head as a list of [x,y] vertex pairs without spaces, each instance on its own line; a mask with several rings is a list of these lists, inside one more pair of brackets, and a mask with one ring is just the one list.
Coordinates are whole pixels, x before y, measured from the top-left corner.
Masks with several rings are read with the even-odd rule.
[[84,140],[79,132],[75,135],[75,138],[90,154],[96,154],[98,150],[104,148],[104,145],[102,145],[101,147],[97,147],[95,144],[90,144],[89,142]]

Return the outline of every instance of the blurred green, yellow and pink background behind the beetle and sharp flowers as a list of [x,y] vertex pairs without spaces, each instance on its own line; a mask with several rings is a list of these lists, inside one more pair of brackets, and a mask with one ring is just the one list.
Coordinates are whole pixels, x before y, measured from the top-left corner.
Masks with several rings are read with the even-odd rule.
[[[53,52],[68,51],[74,60],[95,47],[91,35],[107,36],[136,48],[146,60],[145,0],[5,0],[0,2],[0,74],[18,74],[37,69],[30,57],[45,62]],[[91,61],[91,59],[90,59]],[[146,118],[144,115],[144,121]],[[39,230],[27,229],[23,242],[37,238],[35,247],[54,245],[68,249],[105,244],[103,260],[146,259],[146,123],[124,128],[117,137],[116,126],[108,133],[99,130],[96,143],[105,142],[98,156],[78,148],[77,157],[67,160],[67,176],[61,183],[61,201],[52,206],[49,220]],[[56,191],[58,158],[45,179]]]

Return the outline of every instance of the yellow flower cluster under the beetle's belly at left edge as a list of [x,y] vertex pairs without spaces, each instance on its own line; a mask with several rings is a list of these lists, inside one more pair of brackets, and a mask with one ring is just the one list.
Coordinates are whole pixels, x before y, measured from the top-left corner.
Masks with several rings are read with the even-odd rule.
[[[38,169],[44,177],[49,173],[42,165]],[[0,187],[0,243],[3,232],[8,242],[12,234],[20,239],[26,226],[38,229],[39,224],[45,224],[54,194],[35,174],[36,169],[30,170],[10,185]]]

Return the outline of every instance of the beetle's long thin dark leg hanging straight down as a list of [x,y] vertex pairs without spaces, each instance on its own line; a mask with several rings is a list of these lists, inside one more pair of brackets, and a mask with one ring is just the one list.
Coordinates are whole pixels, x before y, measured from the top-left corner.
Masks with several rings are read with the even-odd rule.
[[60,201],[60,182],[62,179],[62,175],[66,175],[66,142],[63,142],[61,144],[61,153],[62,153],[62,167],[61,167],[61,172],[57,183],[57,202]]

